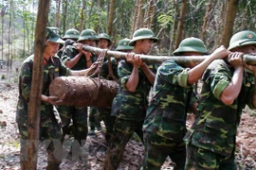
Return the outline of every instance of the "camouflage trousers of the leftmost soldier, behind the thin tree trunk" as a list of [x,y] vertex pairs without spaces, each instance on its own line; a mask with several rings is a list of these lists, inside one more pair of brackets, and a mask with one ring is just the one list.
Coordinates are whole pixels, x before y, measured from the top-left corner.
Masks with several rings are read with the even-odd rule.
[[[16,117],[17,125],[20,132],[20,164],[21,169],[27,169],[27,148],[30,143],[46,145],[47,152],[47,170],[59,169],[62,162],[63,147],[62,147],[62,130],[58,124],[57,119],[52,110],[52,106],[41,106],[41,119],[40,119],[40,141],[28,140],[28,116],[27,109],[18,109]],[[38,149],[38,148],[36,148]]]

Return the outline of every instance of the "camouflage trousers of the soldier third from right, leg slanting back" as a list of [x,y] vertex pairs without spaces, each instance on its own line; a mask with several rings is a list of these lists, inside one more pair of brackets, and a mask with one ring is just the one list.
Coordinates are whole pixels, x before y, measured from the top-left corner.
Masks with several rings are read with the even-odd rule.
[[143,121],[129,121],[116,118],[113,137],[106,151],[104,170],[116,170],[122,159],[125,145],[129,142],[133,133],[136,132],[142,141]]

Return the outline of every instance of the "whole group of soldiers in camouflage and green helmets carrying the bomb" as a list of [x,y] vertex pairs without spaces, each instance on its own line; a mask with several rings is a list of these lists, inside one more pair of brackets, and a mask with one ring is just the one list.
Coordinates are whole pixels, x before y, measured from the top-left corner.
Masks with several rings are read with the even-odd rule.
[[[243,60],[244,54],[256,53],[256,33],[239,31],[230,39],[228,49],[221,45],[212,53],[204,42],[194,37],[184,39],[174,50],[174,56],[209,55],[200,63],[180,64],[174,59],[161,64],[143,61],[141,55],[147,55],[157,41],[154,32],[148,28],[137,29],[132,40],[120,40],[116,50],[127,55],[126,59],[111,59],[119,82],[112,107],[87,110],[87,107],[58,106],[60,101],[56,96],[49,96],[48,87],[57,76],[86,74],[98,55],[83,50],[82,45],[97,44],[102,49],[109,49],[111,38],[105,33],[97,35],[92,29],[84,29],[81,33],[68,29],[61,39],[58,28],[46,28],[40,115],[40,140],[48,141],[46,169],[59,169],[62,162],[62,156],[56,154],[54,140],[63,143],[65,135],[72,131],[75,141],[82,146],[87,135],[94,135],[98,117],[106,128],[104,170],[118,169],[125,145],[135,132],[145,146],[140,169],[160,169],[168,156],[174,169],[236,169],[235,137],[242,110],[246,105],[250,109],[256,108],[256,66],[247,65]],[[59,43],[64,44],[61,49]],[[19,76],[17,124],[21,139],[21,169],[27,169],[27,106],[32,65],[33,55],[24,61]],[[104,68],[103,65],[101,76],[106,77],[108,70]],[[202,80],[202,90],[196,93],[194,84],[199,79]],[[196,118],[187,130],[189,112]],[[58,115],[62,127],[57,121]],[[98,127],[101,129],[101,124]]]

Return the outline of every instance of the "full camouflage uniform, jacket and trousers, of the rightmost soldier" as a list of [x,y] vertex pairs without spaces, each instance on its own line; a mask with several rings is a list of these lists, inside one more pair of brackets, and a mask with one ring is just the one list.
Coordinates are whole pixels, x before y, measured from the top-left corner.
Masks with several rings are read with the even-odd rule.
[[229,86],[233,68],[225,60],[211,62],[205,71],[198,117],[184,137],[187,145],[185,169],[236,169],[235,136],[242,110],[253,109],[254,76],[246,71],[239,96],[225,105],[221,93]]

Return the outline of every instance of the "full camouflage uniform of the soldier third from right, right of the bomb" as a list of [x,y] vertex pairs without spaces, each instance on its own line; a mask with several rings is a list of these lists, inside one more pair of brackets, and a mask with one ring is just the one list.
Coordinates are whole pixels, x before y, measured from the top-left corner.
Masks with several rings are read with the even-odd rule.
[[[155,73],[155,65],[148,65]],[[129,92],[125,84],[132,74],[133,65],[125,60],[119,61],[119,92],[112,104],[112,115],[117,116],[110,146],[106,152],[104,169],[118,169],[119,161],[125,145],[129,142],[134,132],[143,139],[142,124],[148,106],[148,94],[151,83],[144,73],[138,68],[139,82],[135,93]]]

